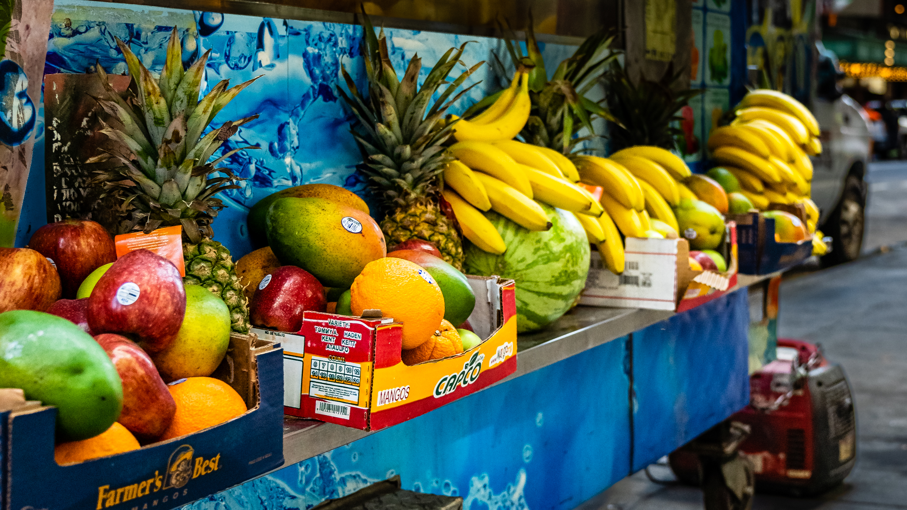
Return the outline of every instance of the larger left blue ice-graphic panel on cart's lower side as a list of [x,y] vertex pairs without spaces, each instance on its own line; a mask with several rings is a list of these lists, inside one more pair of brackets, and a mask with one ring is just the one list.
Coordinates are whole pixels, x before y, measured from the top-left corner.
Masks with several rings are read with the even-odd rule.
[[187,506],[310,508],[399,474],[465,510],[567,510],[629,472],[626,340]]

